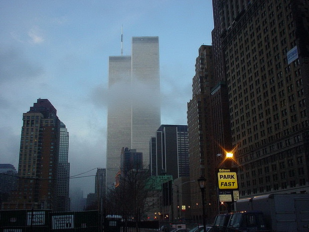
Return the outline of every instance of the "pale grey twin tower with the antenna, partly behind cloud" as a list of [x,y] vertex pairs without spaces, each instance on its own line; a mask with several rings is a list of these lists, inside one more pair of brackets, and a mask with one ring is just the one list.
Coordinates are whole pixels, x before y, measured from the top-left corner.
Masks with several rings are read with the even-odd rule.
[[131,56],[109,57],[106,187],[110,189],[120,171],[122,147],[131,147]]

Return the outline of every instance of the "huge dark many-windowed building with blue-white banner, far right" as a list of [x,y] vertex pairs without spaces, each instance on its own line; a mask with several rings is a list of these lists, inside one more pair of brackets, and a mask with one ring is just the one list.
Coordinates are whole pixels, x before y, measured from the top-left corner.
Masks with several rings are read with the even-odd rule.
[[308,193],[309,2],[213,0],[213,12],[240,196]]

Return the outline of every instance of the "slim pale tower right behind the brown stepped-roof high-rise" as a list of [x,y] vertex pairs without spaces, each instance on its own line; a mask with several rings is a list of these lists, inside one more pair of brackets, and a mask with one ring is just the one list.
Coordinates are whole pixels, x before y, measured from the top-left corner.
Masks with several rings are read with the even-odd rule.
[[60,122],[59,163],[58,163],[58,211],[70,210],[69,186],[70,163],[69,157],[69,132],[63,122]]

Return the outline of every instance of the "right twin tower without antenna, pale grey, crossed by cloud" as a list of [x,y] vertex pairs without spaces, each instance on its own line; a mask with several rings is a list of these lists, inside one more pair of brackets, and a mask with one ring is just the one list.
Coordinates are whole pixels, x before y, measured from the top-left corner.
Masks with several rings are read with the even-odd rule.
[[131,149],[149,163],[149,139],[160,126],[159,44],[157,36],[132,38]]

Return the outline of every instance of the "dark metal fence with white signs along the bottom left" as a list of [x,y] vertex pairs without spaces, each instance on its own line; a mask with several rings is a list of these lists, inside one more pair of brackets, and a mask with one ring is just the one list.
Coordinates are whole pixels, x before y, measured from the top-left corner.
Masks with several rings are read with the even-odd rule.
[[105,219],[99,211],[0,210],[0,232],[153,232],[158,221],[122,222]]

